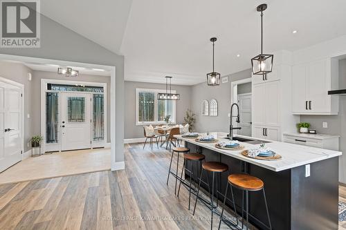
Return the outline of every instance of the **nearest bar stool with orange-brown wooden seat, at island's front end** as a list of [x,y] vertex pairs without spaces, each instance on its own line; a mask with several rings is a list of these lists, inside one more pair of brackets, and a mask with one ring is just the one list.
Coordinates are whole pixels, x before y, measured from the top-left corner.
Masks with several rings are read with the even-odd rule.
[[[243,191],[242,198],[242,229],[244,227],[244,191],[246,193],[246,229],[248,229],[248,192],[249,191],[263,191],[264,203],[266,204],[266,215],[268,216],[269,226],[266,226],[268,229],[271,229],[271,218],[269,216],[268,204],[266,203],[266,193],[264,192],[264,182],[260,178],[256,178],[253,175],[248,174],[231,174],[228,175],[228,183],[226,186],[226,193],[224,204],[226,202],[226,195],[228,184],[230,184],[230,189],[234,186],[237,189],[241,189]],[[221,217],[219,222],[219,229],[222,221],[222,215],[224,214],[224,208],[221,211]],[[235,210],[235,215],[237,215],[237,211]]]

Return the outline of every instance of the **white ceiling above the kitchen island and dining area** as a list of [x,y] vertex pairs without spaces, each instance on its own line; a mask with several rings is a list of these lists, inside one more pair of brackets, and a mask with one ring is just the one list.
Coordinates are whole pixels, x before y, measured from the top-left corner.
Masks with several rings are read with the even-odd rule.
[[[42,12],[84,37],[125,55],[125,79],[197,84],[251,67],[260,52],[257,0],[45,0]],[[346,34],[345,0],[269,0],[264,51],[297,50]],[[293,30],[298,30],[292,34]],[[240,54],[240,57],[237,57]]]

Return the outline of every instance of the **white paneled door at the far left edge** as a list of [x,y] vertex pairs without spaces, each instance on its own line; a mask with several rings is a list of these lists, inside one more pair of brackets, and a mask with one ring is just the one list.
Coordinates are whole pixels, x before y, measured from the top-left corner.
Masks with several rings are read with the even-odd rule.
[[21,87],[0,81],[0,172],[21,161],[22,93]]

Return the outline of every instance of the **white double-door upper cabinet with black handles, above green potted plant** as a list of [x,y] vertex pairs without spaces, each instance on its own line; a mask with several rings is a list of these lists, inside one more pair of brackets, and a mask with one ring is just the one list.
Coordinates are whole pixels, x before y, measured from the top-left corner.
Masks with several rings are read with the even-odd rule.
[[[292,112],[306,115],[338,114],[338,97],[328,95],[338,75],[332,75],[331,59],[325,58],[292,68]],[[336,79],[334,79],[336,78]],[[333,86],[333,88],[337,86]]]

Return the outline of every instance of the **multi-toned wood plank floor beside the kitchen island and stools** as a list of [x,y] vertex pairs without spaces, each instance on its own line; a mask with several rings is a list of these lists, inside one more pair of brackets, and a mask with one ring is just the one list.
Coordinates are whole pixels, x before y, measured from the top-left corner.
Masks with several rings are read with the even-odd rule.
[[0,229],[210,229],[210,210],[199,202],[193,216],[188,190],[166,185],[169,164],[164,148],[127,144],[124,171],[0,185]]

